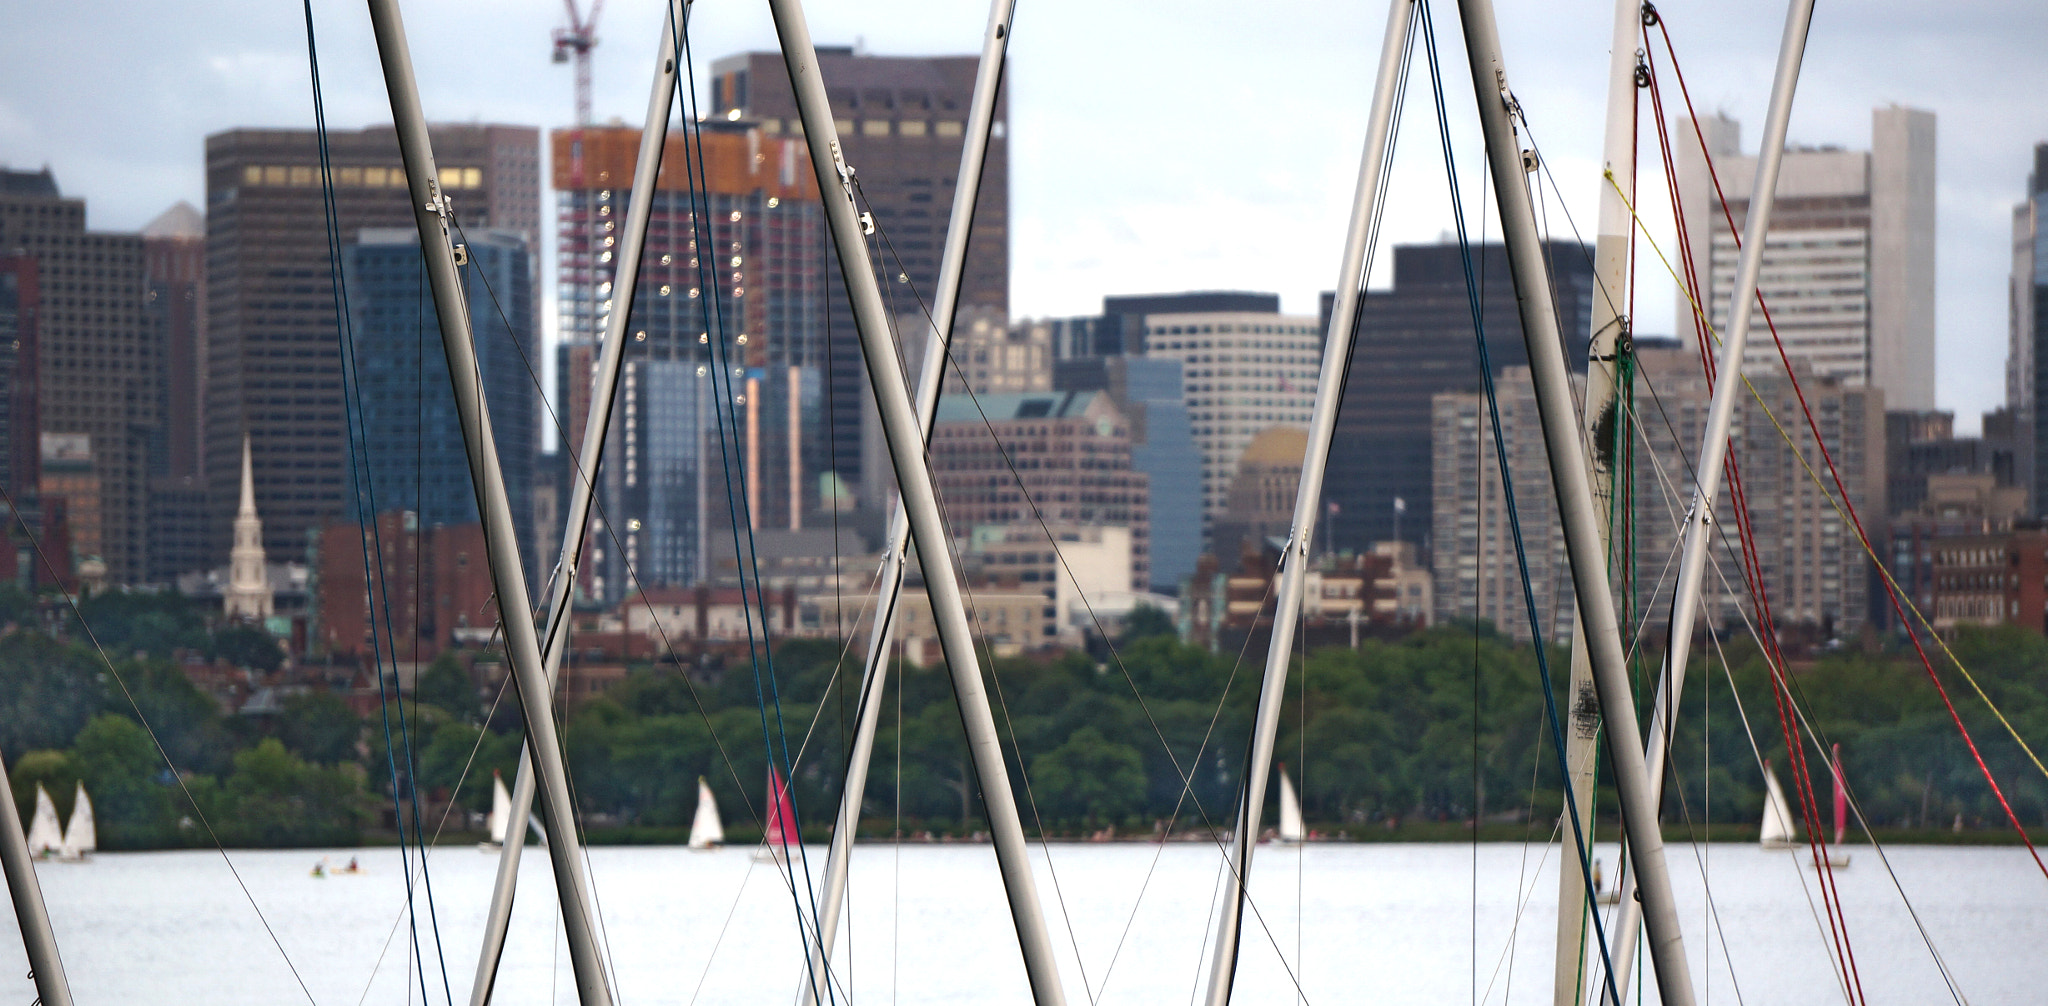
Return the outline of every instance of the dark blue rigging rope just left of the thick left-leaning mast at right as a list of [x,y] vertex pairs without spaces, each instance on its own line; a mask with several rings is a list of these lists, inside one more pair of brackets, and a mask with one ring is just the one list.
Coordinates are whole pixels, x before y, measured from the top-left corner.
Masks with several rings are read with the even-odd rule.
[[[1565,727],[1563,727],[1563,723],[1559,721],[1559,715],[1556,715],[1556,688],[1554,688],[1554,684],[1550,680],[1550,658],[1544,652],[1544,643],[1542,643],[1542,625],[1540,625],[1540,619],[1538,619],[1538,613],[1536,613],[1536,594],[1530,590],[1528,551],[1526,551],[1524,541],[1522,541],[1522,518],[1516,514],[1516,504],[1513,504],[1513,473],[1511,473],[1511,469],[1507,465],[1507,453],[1503,449],[1505,436],[1501,434],[1501,412],[1499,412],[1499,402],[1497,402],[1497,395],[1495,395],[1495,389],[1493,389],[1493,365],[1491,365],[1489,352],[1487,352],[1485,316],[1483,316],[1483,307],[1481,307],[1481,299],[1479,299],[1477,277],[1473,273],[1473,246],[1470,246],[1470,240],[1466,238],[1466,229],[1464,229],[1464,201],[1462,201],[1462,197],[1458,193],[1458,168],[1456,168],[1456,158],[1452,156],[1452,148],[1450,148],[1450,119],[1448,119],[1448,111],[1446,111],[1446,102],[1444,102],[1442,68],[1438,64],[1436,27],[1434,27],[1434,20],[1430,16],[1427,0],[1417,0],[1417,4],[1419,4],[1419,12],[1421,12],[1419,20],[1423,23],[1421,31],[1423,31],[1423,39],[1425,39],[1425,53],[1430,55],[1430,86],[1432,86],[1434,96],[1436,96],[1436,121],[1438,121],[1438,135],[1440,135],[1442,148],[1444,148],[1444,174],[1446,174],[1446,180],[1450,182],[1452,219],[1456,221],[1456,227],[1458,227],[1458,252],[1460,252],[1460,260],[1462,260],[1462,266],[1464,266],[1466,301],[1470,303],[1470,311],[1473,311],[1473,336],[1475,336],[1475,344],[1479,346],[1481,385],[1485,387],[1487,412],[1489,412],[1491,424],[1493,424],[1495,457],[1499,459],[1499,467],[1501,467],[1501,498],[1503,498],[1505,510],[1507,510],[1507,527],[1509,527],[1509,533],[1511,533],[1513,543],[1516,543],[1516,563],[1522,570],[1522,598],[1524,598],[1524,604],[1528,606],[1530,633],[1532,633],[1534,652],[1536,652],[1536,670],[1538,670],[1538,674],[1542,678],[1544,713],[1546,713],[1546,719],[1550,721],[1550,742],[1556,748],[1559,772],[1569,779],[1571,777],[1571,766],[1565,764]],[[1571,809],[1573,844],[1577,846],[1579,867],[1581,867],[1581,871],[1585,875],[1585,897],[1587,897],[1587,902],[1597,904],[1597,891],[1593,891],[1593,879],[1591,879],[1593,877],[1591,852],[1587,848],[1585,830],[1579,828],[1579,811],[1577,811],[1577,803],[1579,801],[1573,795],[1571,787],[1565,787],[1565,801],[1567,801],[1567,805]],[[1602,961],[1606,963],[1606,971],[1608,971],[1608,979],[1606,979],[1608,1000],[1614,1002],[1614,1006],[1620,1006],[1620,992],[1614,986],[1614,961],[1612,961],[1612,957],[1608,953],[1608,934],[1606,934],[1606,926],[1599,922],[1597,914],[1593,916],[1593,926],[1595,926],[1595,934],[1599,938],[1599,955],[1602,955]]]

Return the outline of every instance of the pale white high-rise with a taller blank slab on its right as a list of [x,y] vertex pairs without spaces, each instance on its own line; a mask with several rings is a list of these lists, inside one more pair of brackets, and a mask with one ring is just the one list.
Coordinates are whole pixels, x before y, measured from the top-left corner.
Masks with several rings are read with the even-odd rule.
[[[1716,115],[1677,121],[1677,186],[1686,248],[1700,279],[1700,309],[1729,326],[1757,158],[1741,152],[1741,125]],[[1702,148],[1700,137],[1706,139]],[[1790,148],[1778,176],[1759,291],[1786,352],[1821,377],[1882,387],[1892,408],[1933,408],[1935,117],[1896,104],[1870,117],[1872,145]],[[1708,174],[1706,156],[1714,174]],[[1722,215],[1735,217],[1735,232]],[[1763,326],[1763,316],[1755,318]],[[1677,299],[1677,332],[1694,332],[1694,305]],[[1782,369],[1778,346],[1751,338],[1743,359]]]

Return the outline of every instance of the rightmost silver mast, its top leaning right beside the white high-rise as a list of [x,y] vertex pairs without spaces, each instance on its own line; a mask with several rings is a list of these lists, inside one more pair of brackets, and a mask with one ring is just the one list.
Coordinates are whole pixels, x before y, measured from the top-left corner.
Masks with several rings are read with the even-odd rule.
[[[1692,508],[1686,512],[1686,535],[1677,559],[1677,586],[1671,594],[1671,637],[1665,647],[1665,672],[1659,676],[1657,701],[1651,703],[1649,752],[1651,809],[1663,801],[1663,768],[1686,686],[1686,658],[1692,656],[1692,627],[1700,613],[1700,580],[1706,576],[1706,549],[1714,533],[1714,498],[1720,494],[1722,463],[1729,457],[1729,426],[1735,422],[1735,397],[1743,393],[1743,350],[1749,346],[1749,322],[1757,307],[1757,279],[1763,275],[1763,238],[1769,234],[1772,207],[1778,197],[1778,168],[1784,164],[1786,131],[1792,121],[1792,92],[1798,90],[1798,68],[1806,55],[1806,29],[1812,27],[1812,0],[1792,0],[1786,8],[1786,31],[1778,45],[1778,72],[1772,78],[1772,104],[1763,119],[1763,141],[1757,148],[1757,176],[1749,188],[1749,219],[1743,234],[1743,256],[1729,293],[1729,332],[1720,340],[1720,371],[1714,375],[1714,397],[1706,404],[1706,432],[1700,436],[1700,465],[1694,469]],[[1616,983],[1626,990],[1628,961],[1634,955],[1640,914],[1628,897],[1628,877],[1622,881],[1620,912],[1614,922]]]

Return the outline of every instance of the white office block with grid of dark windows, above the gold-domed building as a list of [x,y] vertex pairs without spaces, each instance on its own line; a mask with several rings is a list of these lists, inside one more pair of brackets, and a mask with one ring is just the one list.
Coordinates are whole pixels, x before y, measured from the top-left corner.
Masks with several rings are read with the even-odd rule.
[[1149,313],[1145,354],[1180,361],[1202,449],[1204,537],[1229,504],[1237,459],[1274,426],[1309,426],[1323,334],[1315,318],[1264,311]]

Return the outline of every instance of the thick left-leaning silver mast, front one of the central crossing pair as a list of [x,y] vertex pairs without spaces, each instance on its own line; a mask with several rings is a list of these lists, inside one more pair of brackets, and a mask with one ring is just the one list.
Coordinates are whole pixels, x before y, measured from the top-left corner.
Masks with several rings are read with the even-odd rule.
[[995,861],[1010,897],[1010,916],[1016,922],[1032,1000],[1038,1006],[1063,1006],[1065,992],[1059,983],[1059,961],[1053,955],[1053,940],[1047,934],[1044,908],[1038,904],[1038,883],[1032,879],[1028,848],[1024,846],[1024,824],[1018,820],[1016,797],[1010,789],[1010,770],[1004,764],[1001,740],[995,733],[995,715],[989,709],[987,686],[981,678],[981,660],[975,654],[973,631],[967,623],[967,604],[961,598],[958,570],[952,561],[952,541],[946,537],[946,525],[938,510],[938,490],[924,457],[924,434],[920,432],[918,412],[911,406],[909,389],[903,387],[901,359],[897,357],[895,338],[889,334],[889,316],[883,307],[874,266],[868,262],[860,211],[854,207],[854,170],[846,164],[840,150],[840,133],[831,119],[831,102],[825,96],[825,80],[817,74],[817,49],[811,43],[811,29],[803,18],[803,2],[768,0],[768,10],[774,16],[776,37],[782,43],[782,61],[788,66],[791,90],[797,96],[797,113],[803,119],[805,145],[811,148],[811,168],[817,172],[825,223],[831,227],[831,242],[840,254],[846,299],[854,307],[860,354],[868,367],[868,385],[874,389],[877,412],[881,414],[883,434],[889,445],[889,461],[895,467],[897,490],[903,498],[903,514],[909,522],[911,541],[918,545],[918,561],[924,565],[924,584],[932,600],[932,623],[938,627],[938,643],[946,654],[946,670],[952,674],[961,727],[967,733],[975,781],[981,787],[983,811],[989,820],[989,832],[995,838]]

